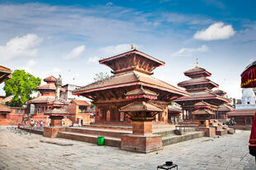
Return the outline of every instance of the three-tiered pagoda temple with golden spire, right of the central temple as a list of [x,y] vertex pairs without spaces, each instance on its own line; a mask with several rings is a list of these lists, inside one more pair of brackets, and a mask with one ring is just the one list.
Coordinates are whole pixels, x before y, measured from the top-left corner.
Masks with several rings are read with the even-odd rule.
[[211,76],[211,73],[206,71],[206,69],[199,67],[197,62],[197,66],[185,71],[184,75],[191,79],[178,83],[178,86],[185,88],[186,91],[190,93],[190,96],[175,100],[175,102],[182,106],[183,111],[185,112],[183,119],[197,120],[198,117],[202,116],[202,110],[200,112],[194,112],[197,110],[195,104],[199,104],[199,102],[204,102],[205,105],[202,108],[206,108],[206,105],[211,108],[211,112],[208,112],[210,110],[203,109],[206,117],[212,119],[218,118],[218,115],[216,114],[217,110],[214,108],[224,103],[229,103],[230,100],[226,99],[222,93],[219,94],[220,91],[212,91],[213,88],[217,88],[219,85],[206,78]]

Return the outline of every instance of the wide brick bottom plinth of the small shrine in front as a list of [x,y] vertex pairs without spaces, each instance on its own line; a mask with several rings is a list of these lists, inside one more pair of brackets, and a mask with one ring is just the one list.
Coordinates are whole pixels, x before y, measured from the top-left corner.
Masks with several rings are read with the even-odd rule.
[[159,135],[124,135],[121,136],[121,149],[139,153],[149,153],[161,149],[162,136]]

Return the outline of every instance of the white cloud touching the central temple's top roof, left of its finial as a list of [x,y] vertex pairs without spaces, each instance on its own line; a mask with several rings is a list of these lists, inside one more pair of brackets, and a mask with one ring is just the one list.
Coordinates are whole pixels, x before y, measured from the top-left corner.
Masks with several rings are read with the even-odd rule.
[[105,48],[101,48],[100,52],[102,53],[102,55],[104,55],[104,57],[107,57],[107,56],[110,56],[110,55],[125,53],[129,50],[130,50],[130,44],[118,44],[116,46],[108,46],[108,47],[105,47]]

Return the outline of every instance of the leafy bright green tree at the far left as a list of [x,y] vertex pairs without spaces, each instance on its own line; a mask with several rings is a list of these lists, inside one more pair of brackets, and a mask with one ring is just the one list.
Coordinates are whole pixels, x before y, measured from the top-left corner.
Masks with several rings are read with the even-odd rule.
[[22,106],[31,99],[31,94],[40,85],[40,78],[31,75],[24,70],[12,72],[12,79],[5,81],[3,90],[7,96],[13,95],[12,100],[7,103],[9,106]]

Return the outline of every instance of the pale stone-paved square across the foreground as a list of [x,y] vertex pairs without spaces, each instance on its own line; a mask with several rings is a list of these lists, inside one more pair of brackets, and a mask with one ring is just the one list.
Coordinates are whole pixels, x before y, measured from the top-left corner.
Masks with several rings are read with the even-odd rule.
[[248,149],[249,133],[236,131],[233,136],[203,137],[169,145],[158,152],[137,154],[115,147],[10,131],[1,126],[0,169],[153,170],[172,160],[182,170],[254,170],[254,157]]

